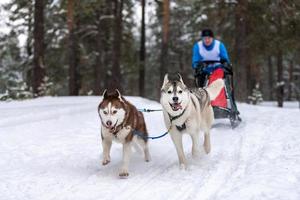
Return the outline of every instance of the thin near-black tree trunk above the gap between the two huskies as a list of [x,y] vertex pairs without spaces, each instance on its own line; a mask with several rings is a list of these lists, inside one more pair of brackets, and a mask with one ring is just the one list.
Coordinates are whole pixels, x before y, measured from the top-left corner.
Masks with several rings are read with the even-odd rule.
[[139,93],[145,96],[145,1],[142,0],[142,20],[141,20],[141,47],[140,47],[140,70],[139,70]]

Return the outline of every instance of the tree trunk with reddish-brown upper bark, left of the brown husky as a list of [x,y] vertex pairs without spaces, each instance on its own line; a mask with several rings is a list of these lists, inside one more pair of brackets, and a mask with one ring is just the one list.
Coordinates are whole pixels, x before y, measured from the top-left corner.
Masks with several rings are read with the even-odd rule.
[[76,35],[74,33],[74,0],[68,0],[68,59],[69,59],[69,95],[76,96],[79,94],[78,81],[78,50]]

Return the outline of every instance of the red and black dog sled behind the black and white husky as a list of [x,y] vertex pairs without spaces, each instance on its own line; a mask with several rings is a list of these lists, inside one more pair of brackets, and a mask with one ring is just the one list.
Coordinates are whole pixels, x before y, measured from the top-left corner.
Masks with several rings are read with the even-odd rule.
[[232,128],[237,127],[242,119],[237,109],[234,90],[233,73],[231,66],[220,61],[203,61],[195,70],[196,87],[206,87],[217,79],[223,79],[225,86],[219,96],[211,101],[215,119],[228,118]]

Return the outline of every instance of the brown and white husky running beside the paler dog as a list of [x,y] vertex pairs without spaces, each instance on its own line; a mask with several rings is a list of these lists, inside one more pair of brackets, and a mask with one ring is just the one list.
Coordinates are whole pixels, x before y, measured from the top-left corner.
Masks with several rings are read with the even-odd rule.
[[[118,90],[103,93],[103,100],[98,106],[101,119],[101,138],[103,147],[102,164],[110,162],[112,141],[123,144],[123,161],[119,171],[122,178],[128,177],[128,165],[132,143],[136,143],[144,152],[145,161],[150,160],[147,142],[147,129],[143,114],[129,103]],[[138,132],[137,136],[134,132]]]

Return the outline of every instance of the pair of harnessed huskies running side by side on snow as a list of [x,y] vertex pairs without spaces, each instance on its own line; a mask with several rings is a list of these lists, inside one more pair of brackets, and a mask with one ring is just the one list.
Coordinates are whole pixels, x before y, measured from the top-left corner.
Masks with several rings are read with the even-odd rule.
[[[164,77],[161,87],[160,103],[166,128],[175,145],[181,168],[187,168],[183,152],[182,134],[187,133],[192,138],[192,155],[200,153],[200,130],[204,132],[204,150],[209,153],[210,128],[214,121],[214,113],[210,104],[221,89],[223,80],[216,80],[207,88],[188,88],[180,74]],[[145,161],[150,160],[147,142],[147,129],[143,114],[129,103],[118,90],[103,93],[98,113],[101,119],[101,138],[103,148],[102,164],[110,162],[112,141],[123,145],[123,160],[119,171],[121,178],[128,177],[128,165],[131,146],[137,144],[144,151]],[[136,134],[138,133],[138,134]]]

